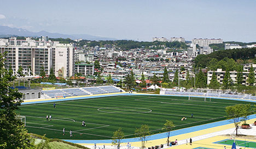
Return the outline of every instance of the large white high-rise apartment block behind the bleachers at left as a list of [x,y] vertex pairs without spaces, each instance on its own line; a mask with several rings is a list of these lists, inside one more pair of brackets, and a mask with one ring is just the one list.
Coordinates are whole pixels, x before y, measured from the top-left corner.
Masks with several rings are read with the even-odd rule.
[[74,46],[73,44],[59,44],[51,42],[48,37],[42,36],[39,41],[26,38],[26,40],[0,40],[1,53],[7,52],[5,56],[5,67],[9,66],[16,74],[19,66],[23,72],[28,71],[39,74],[42,66],[46,74],[53,68],[57,77],[73,76],[74,69]]

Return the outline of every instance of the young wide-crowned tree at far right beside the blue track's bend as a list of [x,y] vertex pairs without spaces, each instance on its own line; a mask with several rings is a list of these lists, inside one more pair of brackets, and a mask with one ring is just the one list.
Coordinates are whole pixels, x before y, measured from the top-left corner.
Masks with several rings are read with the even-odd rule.
[[[249,105],[251,107],[251,105]],[[228,119],[230,119],[232,122],[234,122],[235,128],[236,128],[236,135],[237,130],[240,126],[240,123],[242,120],[245,120],[245,117],[249,115],[249,108],[246,104],[236,104],[236,105],[230,105],[226,107],[226,114],[228,115]]]

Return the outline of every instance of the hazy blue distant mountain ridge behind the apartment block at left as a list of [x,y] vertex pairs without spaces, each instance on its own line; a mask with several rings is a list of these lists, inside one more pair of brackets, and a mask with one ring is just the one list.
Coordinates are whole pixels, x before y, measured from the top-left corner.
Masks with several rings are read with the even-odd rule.
[[94,36],[88,34],[60,34],[60,33],[49,33],[44,30],[40,32],[30,32],[26,29],[21,28],[10,28],[7,26],[0,26],[0,37],[6,36],[33,36],[33,37],[40,37],[40,36],[48,36],[49,38],[70,38],[70,39],[85,39],[85,40],[117,40],[114,38],[106,38],[101,36]]

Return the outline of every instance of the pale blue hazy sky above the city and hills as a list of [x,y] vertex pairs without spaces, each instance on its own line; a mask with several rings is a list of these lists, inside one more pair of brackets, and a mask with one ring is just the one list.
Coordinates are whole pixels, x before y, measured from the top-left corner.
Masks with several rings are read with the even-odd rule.
[[0,0],[0,25],[32,32],[152,41],[256,41],[254,0]]

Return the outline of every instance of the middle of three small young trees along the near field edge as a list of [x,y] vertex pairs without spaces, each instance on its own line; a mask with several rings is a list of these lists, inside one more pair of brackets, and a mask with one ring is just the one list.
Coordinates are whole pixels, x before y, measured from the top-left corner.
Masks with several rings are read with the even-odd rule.
[[146,142],[147,142],[147,136],[150,135],[149,126],[148,125],[142,125],[141,128],[136,128],[135,130],[135,136],[139,137],[139,140],[141,141],[141,148],[145,148]]

